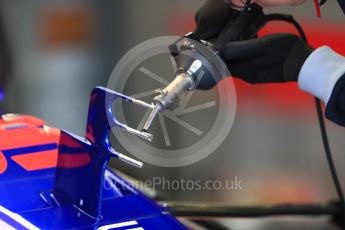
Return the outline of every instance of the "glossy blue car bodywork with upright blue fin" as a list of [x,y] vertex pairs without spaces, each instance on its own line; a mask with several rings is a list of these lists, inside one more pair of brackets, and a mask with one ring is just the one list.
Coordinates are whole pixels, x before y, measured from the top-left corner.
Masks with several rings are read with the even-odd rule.
[[97,229],[128,221],[129,227],[113,229],[186,229],[106,169],[109,159],[117,156],[108,139],[111,127],[121,128],[111,111],[111,103],[117,99],[131,100],[102,87],[93,90],[85,138],[61,130],[59,143],[2,151],[9,159],[58,148],[58,159],[57,167],[36,171],[8,161],[7,171],[0,175],[0,205],[40,229]]

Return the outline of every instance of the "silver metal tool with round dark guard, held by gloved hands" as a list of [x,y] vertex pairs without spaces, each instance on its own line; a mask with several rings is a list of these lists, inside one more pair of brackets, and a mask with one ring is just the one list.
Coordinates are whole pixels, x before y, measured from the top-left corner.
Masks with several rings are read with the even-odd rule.
[[193,33],[183,36],[169,49],[177,65],[176,77],[164,89],[157,90],[153,110],[142,128],[144,132],[150,128],[157,114],[168,109],[182,93],[194,90],[203,79],[217,81],[228,73],[213,45],[199,40]]

